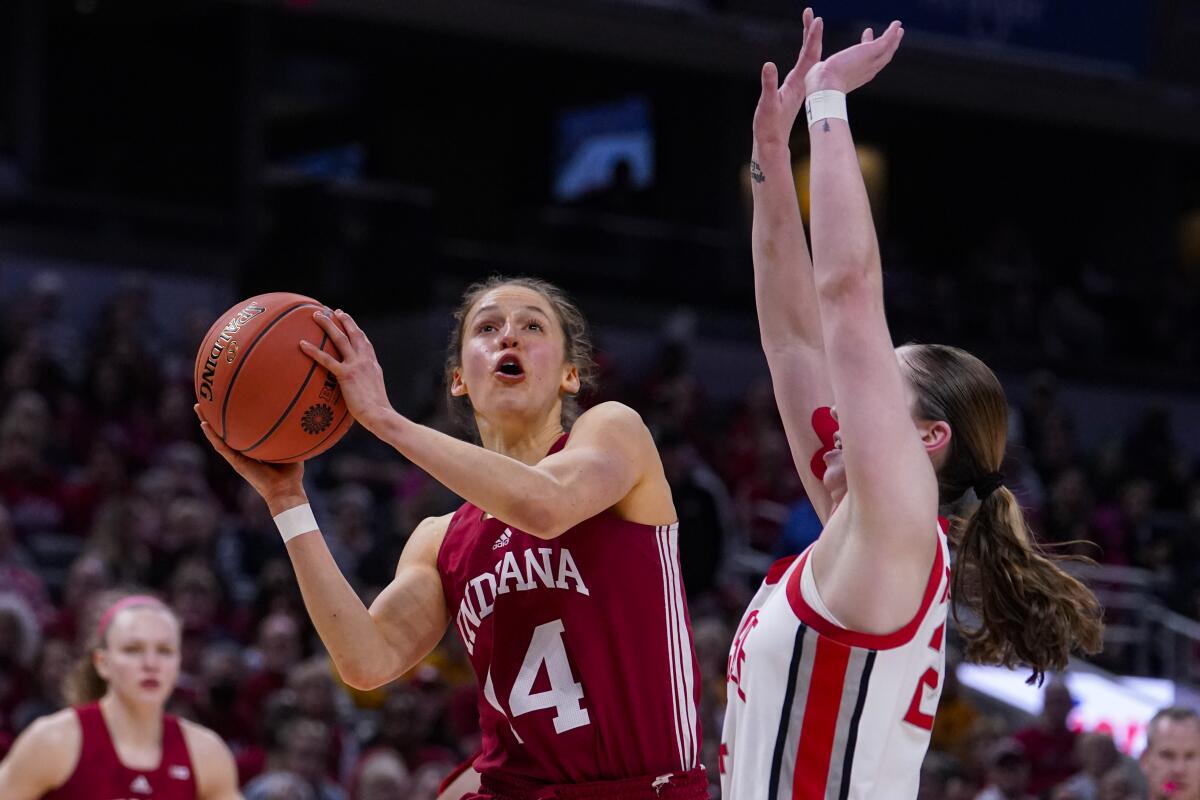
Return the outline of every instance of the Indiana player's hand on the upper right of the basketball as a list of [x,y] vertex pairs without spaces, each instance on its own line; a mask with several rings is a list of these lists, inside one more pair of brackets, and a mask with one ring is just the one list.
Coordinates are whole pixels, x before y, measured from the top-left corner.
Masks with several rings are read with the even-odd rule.
[[338,308],[334,312],[334,317],[346,329],[344,332],[324,312],[313,314],[320,329],[332,339],[334,347],[342,356],[341,360],[324,350],[318,350],[311,342],[300,342],[300,349],[337,378],[350,415],[362,427],[372,431],[374,420],[391,411],[391,403],[388,402],[388,389],[383,383],[383,367],[379,366],[371,339],[350,315]]

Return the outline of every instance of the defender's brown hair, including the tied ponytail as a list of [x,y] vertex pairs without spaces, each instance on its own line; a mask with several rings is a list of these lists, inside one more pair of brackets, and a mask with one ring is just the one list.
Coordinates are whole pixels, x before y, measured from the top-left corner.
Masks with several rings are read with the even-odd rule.
[[[965,350],[942,344],[900,349],[917,395],[914,413],[949,423],[946,461],[937,473],[940,503],[966,499],[968,489],[1000,471],[1008,440],[1008,402],[988,366]],[[1038,546],[1013,493],[1001,486],[984,493],[970,513],[955,516],[954,620],[966,640],[966,658],[1033,668],[1030,682],[1061,670],[1074,650],[1098,652],[1102,612],[1096,595],[1063,572]],[[1086,560],[1086,559],[1085,559]],[[979,619],[959,619],[966,606]]]

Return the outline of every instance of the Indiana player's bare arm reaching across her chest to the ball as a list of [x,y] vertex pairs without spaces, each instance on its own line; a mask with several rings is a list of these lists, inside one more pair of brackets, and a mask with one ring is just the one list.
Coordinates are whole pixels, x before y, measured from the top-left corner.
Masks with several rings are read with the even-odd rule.
[[[335,314],[344,333],[323,315],[317,321],[342,359],[307,342],[301,348],[337,378],[354,419],[448,489],[527,534],[553,539],[620,504],[661,473],[641,416],[620,403],[588,409],[575,422],[566,447],[532,465],[418,425],[388,401],[383,369],[366,333],[349,314]],[[670,509],[658,517],[635,522],[674,522]]]

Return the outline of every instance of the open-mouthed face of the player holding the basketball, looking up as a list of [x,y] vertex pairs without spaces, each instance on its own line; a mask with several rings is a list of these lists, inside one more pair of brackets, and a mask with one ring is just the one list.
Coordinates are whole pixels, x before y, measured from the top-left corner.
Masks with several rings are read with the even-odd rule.
[[564,392],[578,389],[578,373],[565,362],[563,329],[540,293],[502,285],[472,306],[450,392],[469,397],[476,415],[533,423],[560,408]]

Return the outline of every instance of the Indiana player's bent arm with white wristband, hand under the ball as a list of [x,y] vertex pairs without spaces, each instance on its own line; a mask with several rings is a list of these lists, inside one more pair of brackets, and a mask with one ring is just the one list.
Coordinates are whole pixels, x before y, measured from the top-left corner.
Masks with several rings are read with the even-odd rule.
[[[258,491],[271,516],[308,501],[302,464],[264,464],[230,450],[208,422],[202,428],[217,452]],[[448,523],[449,517],[438,517],[416,527],[396,577],[370,610],[337,569],[319,530],[288,541],[308,616],[342,680],[354,688],[374,688],[404,674],[450,625],[437,566]]]

